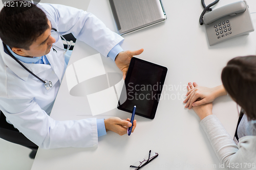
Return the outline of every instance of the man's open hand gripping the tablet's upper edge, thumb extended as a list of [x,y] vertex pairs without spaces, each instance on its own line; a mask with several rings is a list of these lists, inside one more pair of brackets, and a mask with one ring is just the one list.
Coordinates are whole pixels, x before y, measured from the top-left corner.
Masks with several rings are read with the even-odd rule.
[[143,48],[140,50],[136,51],[125,51],[125,52],[120,52],[115,59],[115,63],[118,66],[118,68],[123,72],[123,80],[125,79],[128,67],[130,65],[130,61],[133,56],[140,55],[143,52]]

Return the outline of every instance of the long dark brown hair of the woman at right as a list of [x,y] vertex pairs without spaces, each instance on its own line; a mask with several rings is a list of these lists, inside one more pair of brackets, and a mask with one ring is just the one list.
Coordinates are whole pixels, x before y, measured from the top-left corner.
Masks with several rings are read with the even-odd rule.
[[231,98],[256,120],[256,56],[236,57],[222,70],[221,80]]

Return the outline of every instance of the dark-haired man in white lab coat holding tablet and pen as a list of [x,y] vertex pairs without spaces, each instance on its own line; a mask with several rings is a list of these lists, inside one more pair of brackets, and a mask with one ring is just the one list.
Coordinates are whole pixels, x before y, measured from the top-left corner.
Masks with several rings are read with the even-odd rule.
[[[57,121],[49,116],[67,67],[59,34],[72,33],[112,58],[124,78],[131,58],[143,49],[123,52],[123,38],[91,13],[18,3],[0,12],[0,110],[8,122],[43,149],[93,147],[106,131],[125,134],[131,127],[129,118]],[[133,131],[135,127],[136,120]]]

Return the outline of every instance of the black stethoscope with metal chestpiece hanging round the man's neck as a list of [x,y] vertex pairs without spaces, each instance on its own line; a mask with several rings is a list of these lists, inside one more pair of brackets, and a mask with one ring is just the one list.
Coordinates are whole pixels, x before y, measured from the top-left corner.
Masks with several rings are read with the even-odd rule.
[[[55,46],[55,45],[53,45],[53,46],[56,47],[56,48],[58,48],[59,50],[63,50],[63,51],[65,51],[65,52],[67,52],[67,51],[69,50],[69,48],[71,47],[71,44],[73,43],[73,41],[70,41],[70,44],[69,44],[68,41],[67,41],[62,35],[60,35],[60,33],[59,33],[55,28],[52,28],[52,30],[53,30],[54,32],[56,32],[61,38],[63,38],[63,39],[66,41],[66,43],[68,44],[68,48],[65,49],[65,48],[59,48],[59,47],[57,47],[57,46]],[[53,31],[52,31],[52,32],[53,32]],[[19,65],[21,65],[24,69],[26,69],[31,75],[33,75],[35,78],[37,78],[37,79],[40,80],[42,83],[44,83],[44,84],[45,84],[45,88],[46,88],[47,90],[50,90],[50,88],[52,87],[52,82],[51,82],[51,81],[42,80],[42,79],[40,79],[38,76],[36,76],[32,71],[30,71],[27,67],[25,67],[25,65],[23,65],[18,59],[16,59],[16,57],[14,57],[14,56],[12,55],[12,53],[9,51],[9,49],[7,48],[7,46],[6,46],[5,43],[3,43],[3,44],[4,44],[4,48],[6,49],[7,53],[9,54],[9,56],[11,56],[17,63],[19,63]],[[54,48],[53,48],[53,50],[57,53],[57,51],[56,51]]]

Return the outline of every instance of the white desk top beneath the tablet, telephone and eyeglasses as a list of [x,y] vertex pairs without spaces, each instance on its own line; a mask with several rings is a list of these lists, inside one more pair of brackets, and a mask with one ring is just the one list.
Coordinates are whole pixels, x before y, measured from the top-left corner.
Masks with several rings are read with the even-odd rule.
[[[232,2],[220,1],[214,8]],[[247,2],[250,12],[255,12],[256,2]],[[164,99],[159,103],[155,119],[135,116],[135,133],[119,136],[108,132],[99,137],[98,148],[39,149],[33,170],[130,169],[129,166],[140,161],[149,150],[158,152],[159,157],[143,169],[222,169],[199,125],[198,116],[193,110],[184,109],[181,95],[186,93],[185,87],[189,81],[207,87],[220,85],[221,71],[228,60],[255,54],[256,32],[209,46],[205,27],[199,25],[203,10],[200,1],[163,0],[163,5],[167,14],[166,22],[125,35],[122,44],[124,50],[144,48],[139,58],[168,68],[165,81],[168,89],[162,92]],[[88,11],[116,31],[108,0],[92,0]],[[255,27],[256,14],[252,14],[252,20]],[[97,53],[78,41],[69,65]],[[103,62],[105,69],[118,71],[111,59]],[[87,98],[71,96],[66,81],[64,77],[51,117],[58,120],[91,117]],[[214,102],[213,113],[233,136],[238,118],[237,105],[228,96],[223,96]],[[112,115],[123,119],[131,117],[130,113],[118,109],[99,117]]]

